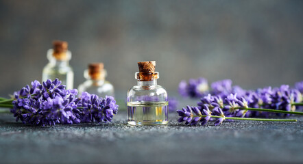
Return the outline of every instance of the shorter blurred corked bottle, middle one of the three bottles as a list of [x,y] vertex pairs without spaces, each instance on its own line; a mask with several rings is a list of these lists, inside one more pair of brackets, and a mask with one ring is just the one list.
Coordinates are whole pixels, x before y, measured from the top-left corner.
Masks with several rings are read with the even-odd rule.
[[89,64],[88,70],[84,71],[84,77],[87,81],[79,85],[79,94],[88,92],[89,94],[97,94],[102,98],[114,96],[114,87],[105,80],[106,70],[103,63]]

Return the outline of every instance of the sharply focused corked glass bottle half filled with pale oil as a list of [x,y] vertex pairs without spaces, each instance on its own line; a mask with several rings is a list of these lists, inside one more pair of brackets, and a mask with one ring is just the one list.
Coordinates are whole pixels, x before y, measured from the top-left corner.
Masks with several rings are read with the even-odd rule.
[[157,84],[156,61],[138,62],[137,85],[128,91],[128,124],[157,125],[168,122],[167,91]]

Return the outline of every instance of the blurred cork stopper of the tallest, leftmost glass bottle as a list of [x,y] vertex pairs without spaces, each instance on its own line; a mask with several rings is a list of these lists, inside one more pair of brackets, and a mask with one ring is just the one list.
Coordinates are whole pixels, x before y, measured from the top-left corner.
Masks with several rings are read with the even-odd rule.
[[53,57],[58,60],[65,60],[67,58],[66,51],[68,48],[67,42],[56,40],[53,41]]

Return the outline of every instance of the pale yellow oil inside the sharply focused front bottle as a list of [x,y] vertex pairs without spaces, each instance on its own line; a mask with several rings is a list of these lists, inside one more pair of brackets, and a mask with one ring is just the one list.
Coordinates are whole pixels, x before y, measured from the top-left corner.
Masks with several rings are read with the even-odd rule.
[[167,124],[169,102],[128,102],[128,124]]

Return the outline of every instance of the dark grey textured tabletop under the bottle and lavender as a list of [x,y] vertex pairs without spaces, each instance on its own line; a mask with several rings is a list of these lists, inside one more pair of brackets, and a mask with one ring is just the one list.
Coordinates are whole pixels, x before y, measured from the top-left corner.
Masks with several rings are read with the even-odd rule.
[[113,124],[27,126],[0,114],[1,163],[302,163],[298,122],[223,122],[184,126]]

